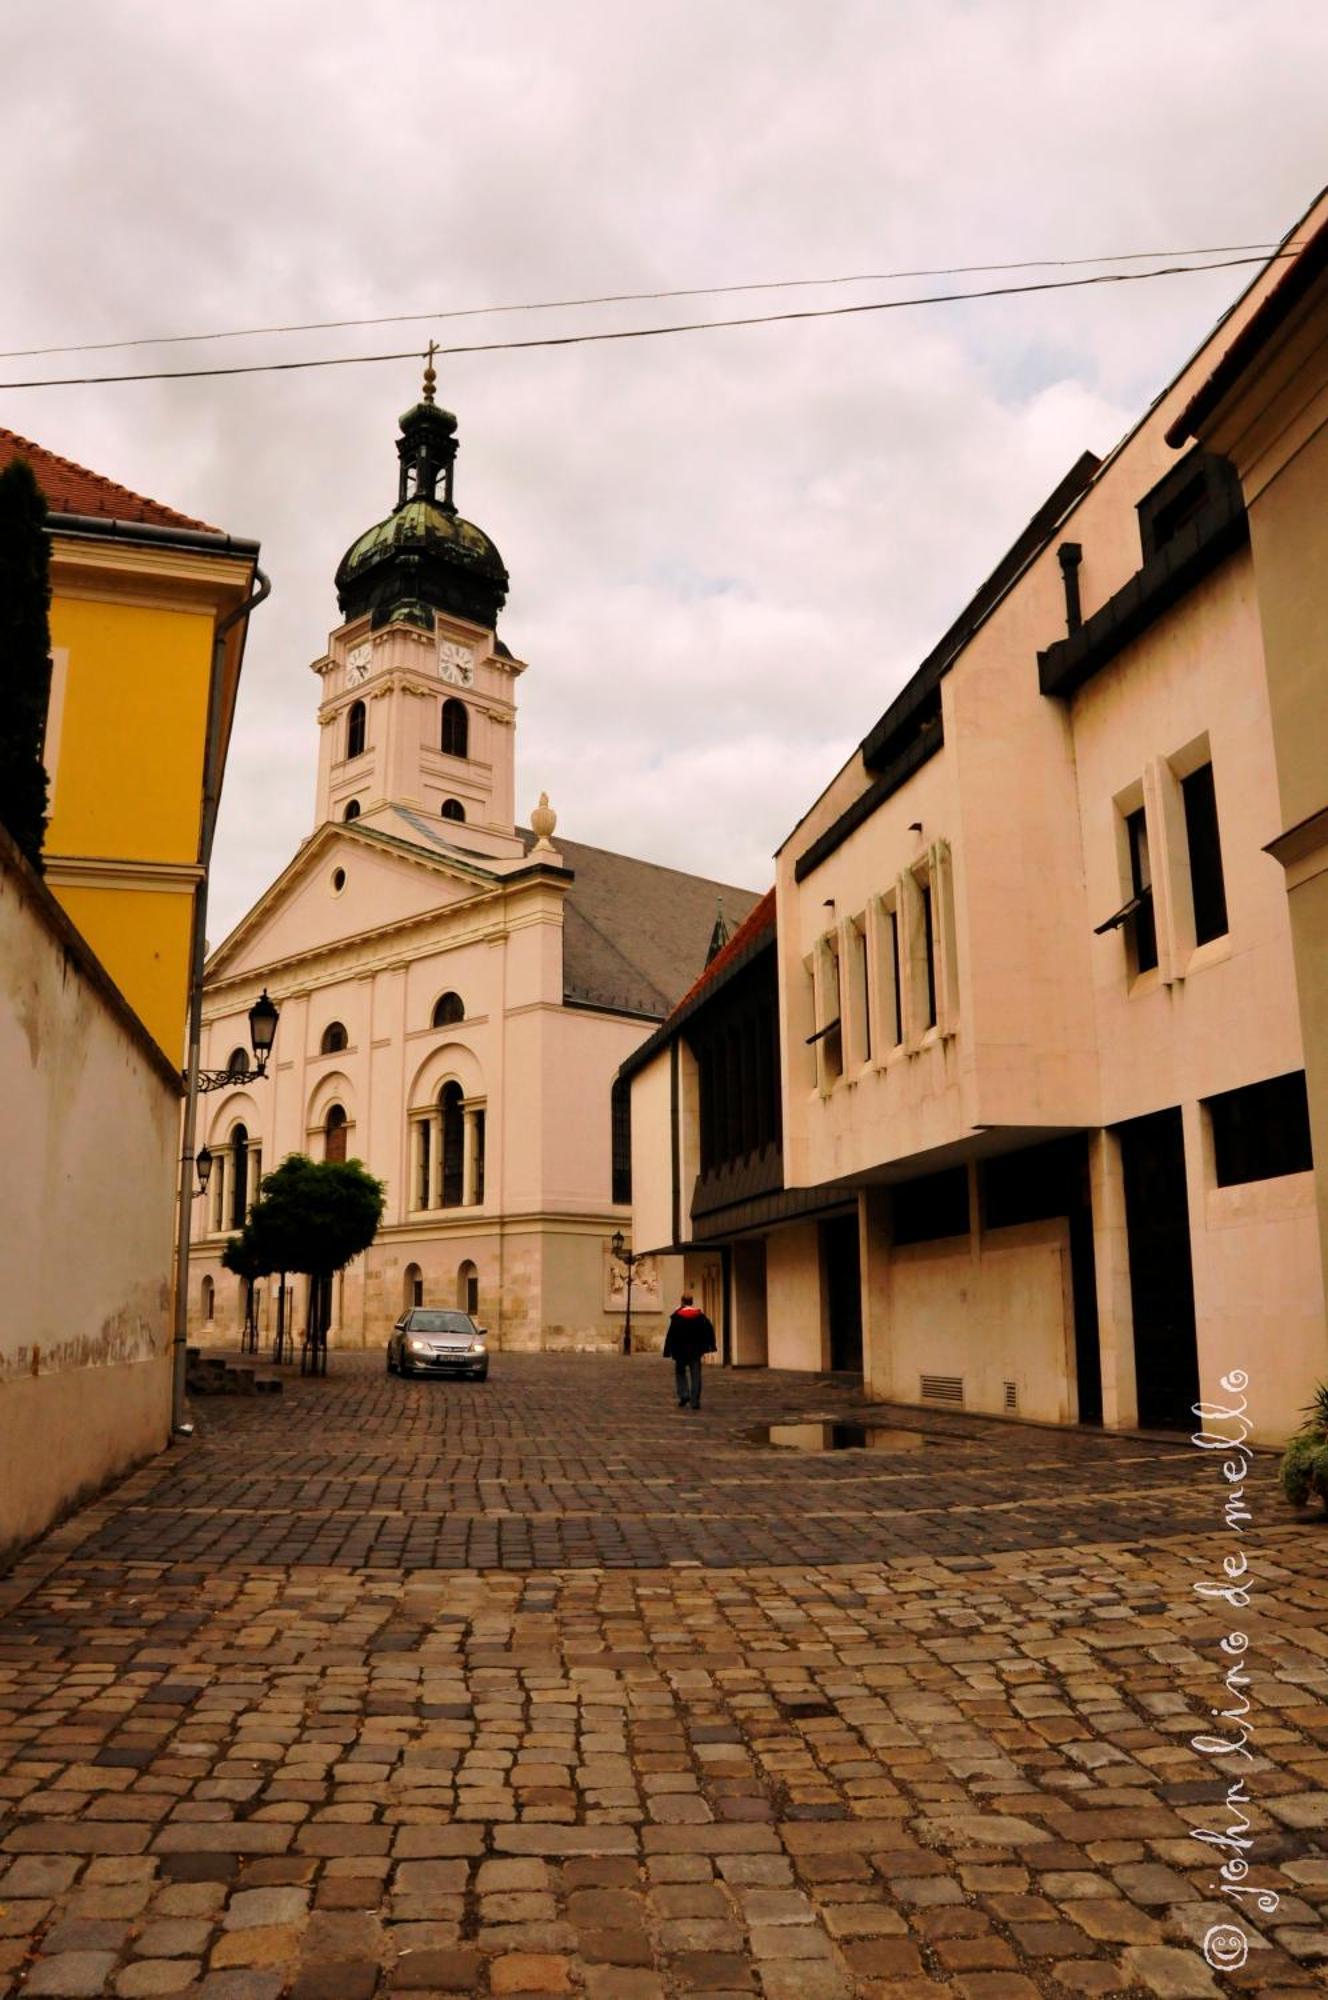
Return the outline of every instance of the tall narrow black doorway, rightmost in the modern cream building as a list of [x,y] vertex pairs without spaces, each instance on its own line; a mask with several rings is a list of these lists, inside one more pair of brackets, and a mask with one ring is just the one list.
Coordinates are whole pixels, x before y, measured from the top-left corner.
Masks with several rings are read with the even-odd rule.
[[1144,1430],[1192,1430],[1198,1340],[1180,1112],[1130,1118],[1116,1134],[1126,1186],[1138,1420]]

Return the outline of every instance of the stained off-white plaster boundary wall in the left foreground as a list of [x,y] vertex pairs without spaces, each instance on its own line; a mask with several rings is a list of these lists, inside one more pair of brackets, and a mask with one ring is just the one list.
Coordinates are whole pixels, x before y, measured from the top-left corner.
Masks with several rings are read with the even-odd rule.
[[70,930],[4,840],[0,1554],[170,1432],[180,1096]]

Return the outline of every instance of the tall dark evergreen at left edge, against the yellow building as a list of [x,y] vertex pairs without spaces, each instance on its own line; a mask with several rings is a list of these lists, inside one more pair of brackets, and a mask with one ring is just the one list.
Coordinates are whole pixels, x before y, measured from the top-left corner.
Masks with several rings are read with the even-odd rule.
[[0,472],[0,812],[36,870],[46,836],[50,706],[46,500],[26,458]]

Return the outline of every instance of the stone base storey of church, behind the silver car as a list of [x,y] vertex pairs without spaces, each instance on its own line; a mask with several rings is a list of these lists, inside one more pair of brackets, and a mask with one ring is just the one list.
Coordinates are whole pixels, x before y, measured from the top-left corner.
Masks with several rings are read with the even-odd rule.
[[[334,1282],[334,1348],[386,1346],[396,1318],[414,1304],[460,1306],[488,1328],[494,1352],[618,1352],[626,1322],[622,1266],[610,1250],[614,1216],[488,1218],[448,1214],[384,1230]],[[240,1344],[244,1284],[222,1270],[224,1242],[190,1256],[190,1340]],[[650,1264],[632,1300],[632,1346],[664,1344],[682,1286],[682,1260]],[[288,1278],[286,1326],[304,1332],[308,1282]],[[278,1280],[258,1288],[260,1352],[272,1344]],[[212,1312],[208,1314],[208,1302]]]

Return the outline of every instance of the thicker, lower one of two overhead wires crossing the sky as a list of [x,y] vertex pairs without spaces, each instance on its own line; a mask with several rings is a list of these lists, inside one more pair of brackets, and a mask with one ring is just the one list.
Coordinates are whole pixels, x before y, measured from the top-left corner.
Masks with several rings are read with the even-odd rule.
[[[1160,264],[1154,270],[1112,270],[1094,272],[1088,278],[1042,278],[1034,284],[994,284],[980,292],[930,292],[916,298],[876,298],[854,306],[804,306],[790,312],[756,312],[734,320],[678,320],[670,326],[618,326],[602,332],[582,334],[540,334],[530,340],[480,340],[458,346],[436,346],[438,356],[452,354],[516,354],[530,348],[578,348],[608,340],[658,340],[664,334],[714,334],[734,326],[778,326],[790,320],[840,320],[864,312],[904,312],[916,306],[956,306],[982,298],[1016,298],[1032,292],[1072,292],[1092,284],[1140,284],[1148,278],[1186,278],[1192,272],[1238,270],[1244,264],[1266,264],[1294,256],[1294,246],[1276,250],[1272,258],[1236,256],[1208,264]],[[198,382],[218,376],[246,374],[290,374],[304,368],[356,368],[374,362],[420,360],[422,350],[402,348],[394,354],[324,354],[294,362],[232,362],[214,368],[152,368],[134,374],[100,376],[36,376],[28,382],[0,382],[0,390],[10,388],[104,388],[112,382]]]

